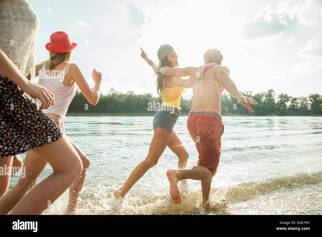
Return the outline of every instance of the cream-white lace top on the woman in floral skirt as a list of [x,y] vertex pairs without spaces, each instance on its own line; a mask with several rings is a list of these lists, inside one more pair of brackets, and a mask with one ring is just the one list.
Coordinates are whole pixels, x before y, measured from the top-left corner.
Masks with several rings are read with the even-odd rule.
[[35,77],[38,30],[39,18],[27,0],[0,0],[0,47],[26,77]]

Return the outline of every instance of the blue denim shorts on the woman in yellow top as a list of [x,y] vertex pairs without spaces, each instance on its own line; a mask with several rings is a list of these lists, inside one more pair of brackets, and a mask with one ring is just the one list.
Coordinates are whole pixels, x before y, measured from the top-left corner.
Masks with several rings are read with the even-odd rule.
[[160,127],[167,131],[173,131],[173,127],[180,116],[180,110],[172,107],[161,107],[153,118],[153,129]]

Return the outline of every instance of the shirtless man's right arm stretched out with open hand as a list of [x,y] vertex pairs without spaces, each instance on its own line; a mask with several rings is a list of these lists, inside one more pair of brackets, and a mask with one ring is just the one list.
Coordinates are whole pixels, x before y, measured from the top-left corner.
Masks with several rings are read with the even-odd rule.
[[254,112],[254,110],[252,110],[249,106],[249,103],[257,105],[256,100],[253,100],[247,96],[243,96],[242,93],[237,89],[235,82],[232,81],[229,74],[230,71],[227,67],[220,66],[217,68],[217,80],[223,85],[225,90],[227,90],[229,94],[237,99],[238,104],[242,103],[242,105],[245,106],[250,112]]

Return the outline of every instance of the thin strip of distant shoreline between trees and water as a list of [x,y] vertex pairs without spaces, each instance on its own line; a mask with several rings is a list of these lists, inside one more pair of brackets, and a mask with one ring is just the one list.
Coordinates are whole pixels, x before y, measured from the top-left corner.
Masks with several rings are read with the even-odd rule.
[[[100,112],[69,112],[66,114],[66,116],[154,116],[155,113],[151,112],[138,112],[138,113],[127,113],[127,112],[120,112],[120,113],[100,113]],[[188,116],[189,113],[181,113],[181,116]],[[233,116],[233,117],[243,117],[243,116],[251,116],[251,117],[263,117],[260,115],[240,115],[240,114],[227,114],[227,113],[222,113],[222,116]],[[287,117],[287,116],[307,116],[307,117],[321,117],[322,114],[318,115],[264,115],[268,117]]]

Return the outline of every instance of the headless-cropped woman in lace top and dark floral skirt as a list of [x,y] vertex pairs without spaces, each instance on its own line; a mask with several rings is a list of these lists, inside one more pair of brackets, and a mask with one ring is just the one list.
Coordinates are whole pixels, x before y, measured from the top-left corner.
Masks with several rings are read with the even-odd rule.
[[32,149],[53,169],[11,214],[41,214],[83,169],[68,137],[43,110],[54,103],[53,94],[28,80],[35,75],[38,29],[39,18],[26,0],[0,2],[0,197],[9,187],[14,155]]

